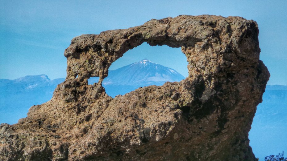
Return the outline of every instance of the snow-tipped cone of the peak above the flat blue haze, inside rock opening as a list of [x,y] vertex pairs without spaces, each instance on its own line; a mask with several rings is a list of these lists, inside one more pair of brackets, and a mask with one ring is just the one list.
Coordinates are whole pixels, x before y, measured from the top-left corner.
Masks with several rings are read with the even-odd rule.
[[162,85],[165,82],[179,82],[185,79],[176,70],[153,63],[148,59],[111,70],[103,85]]

